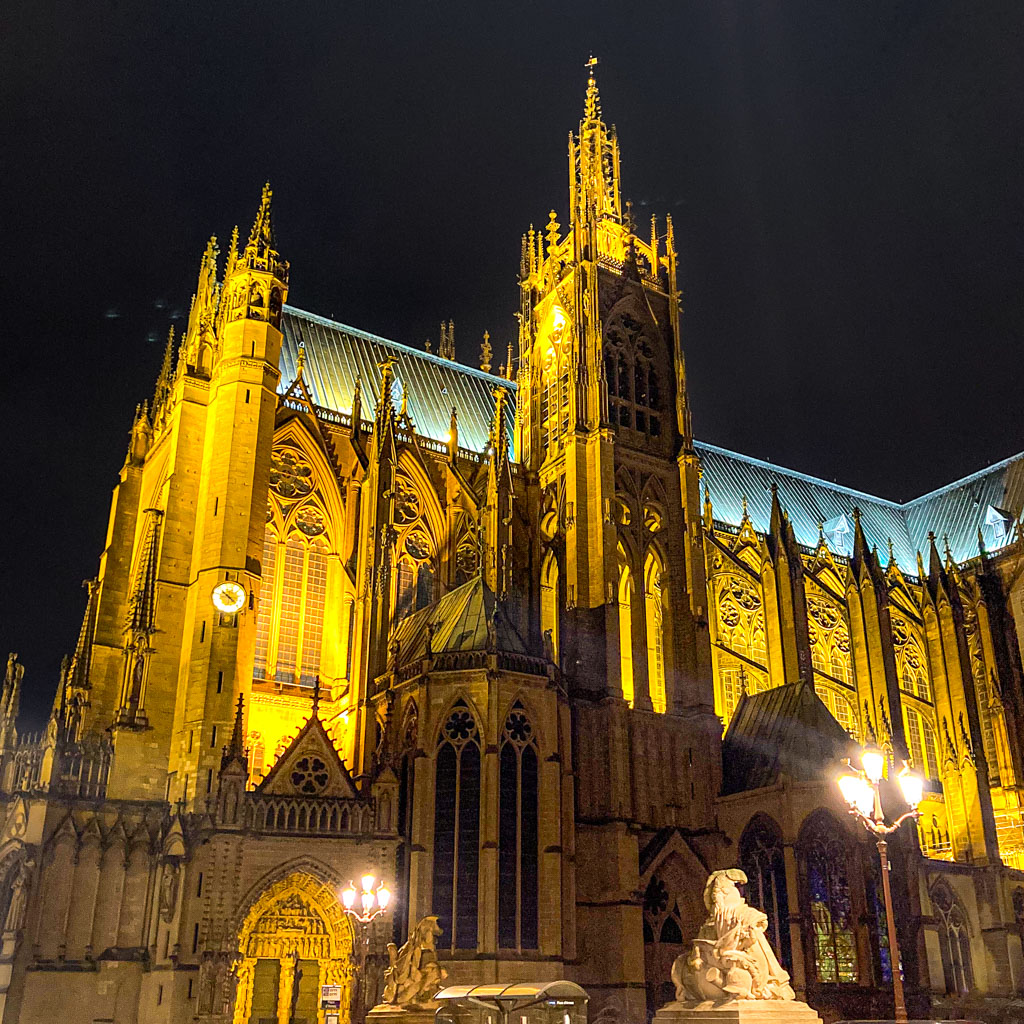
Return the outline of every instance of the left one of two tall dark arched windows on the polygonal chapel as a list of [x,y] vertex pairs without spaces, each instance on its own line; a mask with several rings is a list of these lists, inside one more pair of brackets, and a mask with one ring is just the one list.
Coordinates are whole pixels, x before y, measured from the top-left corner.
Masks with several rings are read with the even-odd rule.
[[480,846],[480,738],[462,700],[437,743],[434,782],[433,905],[442,949],[476,949]]

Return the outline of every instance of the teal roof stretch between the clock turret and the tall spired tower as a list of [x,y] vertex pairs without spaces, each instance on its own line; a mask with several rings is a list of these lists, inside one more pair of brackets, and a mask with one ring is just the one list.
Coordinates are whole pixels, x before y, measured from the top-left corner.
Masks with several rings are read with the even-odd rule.
[[[298,375],[301,344],[305,348],[302,377],[313,401],[337,413],[349,414],[358,378],[364,415],[372,418],[380,397],[378,362],[390,357],[395,360],[394,404],[396,408],[400,404],[404,388],[416,432],[435,441],[446,441],[454,407],[459,416],[459,443],[473,452],[482,452],[487,446],[495,415],[494,389],[503,387],[515,392],[515,385],[504,377],[336,324],[294,306],[285,306],[282,331],[285,336],[281,353],[282,392]],[[507,402],[506,409],[506,430],[511,443],[515,401]]]

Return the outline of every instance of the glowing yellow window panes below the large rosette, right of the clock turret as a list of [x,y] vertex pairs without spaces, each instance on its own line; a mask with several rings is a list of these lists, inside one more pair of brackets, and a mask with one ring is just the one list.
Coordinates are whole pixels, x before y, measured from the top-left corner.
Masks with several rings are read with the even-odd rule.
[[[286,483],[292,489],[294,480],[286,478]],[[312,686],[319,675],[324,641],[327,525],[314,504],[289,509],[271,499],[270,512],[263,542],[253,676]]]

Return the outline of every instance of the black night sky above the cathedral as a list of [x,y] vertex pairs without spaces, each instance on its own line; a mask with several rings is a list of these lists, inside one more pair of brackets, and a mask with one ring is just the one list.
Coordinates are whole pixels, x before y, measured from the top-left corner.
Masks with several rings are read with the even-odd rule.
[[600,58],[671,212],[697,436],[904,500],[1024,449],[1024,4],[8,4],[0,648],[39,725],[206,239],[274,188],[290,301],[515,330]]

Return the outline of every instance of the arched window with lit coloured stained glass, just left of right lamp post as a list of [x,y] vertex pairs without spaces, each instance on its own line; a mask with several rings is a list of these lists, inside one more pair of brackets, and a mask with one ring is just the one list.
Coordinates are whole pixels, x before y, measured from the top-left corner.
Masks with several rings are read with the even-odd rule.
[[819,815],[802,842],[807,867],[807,903],[814,943],[814,975],[819,982],[856,982],[857,943],[850,900],[850,849],[841,826]]

